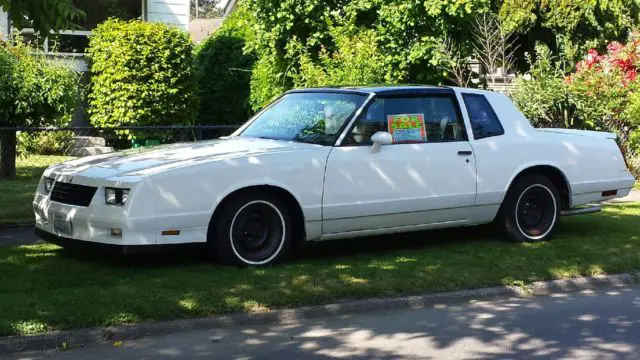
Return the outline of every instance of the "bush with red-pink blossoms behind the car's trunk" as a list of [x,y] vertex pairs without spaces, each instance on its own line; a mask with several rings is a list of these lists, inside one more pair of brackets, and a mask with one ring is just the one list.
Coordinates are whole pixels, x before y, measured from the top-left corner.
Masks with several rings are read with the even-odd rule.
[[611,42],[606,52],[589,50],[568,75],[548,50],[536,50],[512,93],[520,110],[534,126],[615,132],[640,174],[640,31],[626,44]]

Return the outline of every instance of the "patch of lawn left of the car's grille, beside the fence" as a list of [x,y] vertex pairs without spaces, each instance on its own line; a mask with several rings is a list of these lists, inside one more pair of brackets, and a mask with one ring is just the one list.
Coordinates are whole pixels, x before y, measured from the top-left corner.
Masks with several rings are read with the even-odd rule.
[[0,180],[0,224],[33,221],[33,195],[44,169],[69,159],[65,156],[33,155],[16,162],[16,179]]

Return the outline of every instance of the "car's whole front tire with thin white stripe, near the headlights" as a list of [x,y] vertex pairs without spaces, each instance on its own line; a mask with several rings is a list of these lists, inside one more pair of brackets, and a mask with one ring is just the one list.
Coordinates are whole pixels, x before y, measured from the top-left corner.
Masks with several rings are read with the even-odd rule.
[[282,260],[292,239],[289,209],[272,194],[245,193],[225,201],[209,232],[209,255],[224,265],[265,266]]

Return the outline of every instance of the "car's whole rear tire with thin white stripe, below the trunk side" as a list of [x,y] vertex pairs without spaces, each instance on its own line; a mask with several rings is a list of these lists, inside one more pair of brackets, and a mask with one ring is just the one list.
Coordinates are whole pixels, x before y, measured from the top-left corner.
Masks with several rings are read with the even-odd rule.
[[512,241],[540,242],[551,238],[559,215],[560,196],[553,182],[529,175],[511,186],[496,220]]

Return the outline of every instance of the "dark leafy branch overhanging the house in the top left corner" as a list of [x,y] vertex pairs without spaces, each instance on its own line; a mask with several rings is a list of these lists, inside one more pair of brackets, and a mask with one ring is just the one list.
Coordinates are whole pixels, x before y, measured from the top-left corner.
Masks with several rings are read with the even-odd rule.
[[73,29],[85,15],[73,0],[0,0],[0,8],[9,13],[12,26],[33,27],[40,34]]

